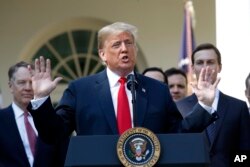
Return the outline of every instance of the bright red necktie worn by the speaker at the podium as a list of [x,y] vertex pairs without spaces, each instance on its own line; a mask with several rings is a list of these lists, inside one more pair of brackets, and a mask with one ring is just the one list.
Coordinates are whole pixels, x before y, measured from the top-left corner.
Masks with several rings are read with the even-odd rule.
[[126,78],[119,79],[120,88],[118,92],[117,123],[119,134],[131,128],[131,116],[129,111],[128,97],[125,90]]

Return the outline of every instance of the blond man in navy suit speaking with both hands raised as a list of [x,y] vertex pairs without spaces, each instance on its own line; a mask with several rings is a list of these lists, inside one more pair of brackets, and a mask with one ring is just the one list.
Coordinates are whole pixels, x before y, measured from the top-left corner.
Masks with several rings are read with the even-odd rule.
[[[98,32],[98,51],[107,68],[95,75],[71,82],[64,91],[56,109],[50,100],[50,93],[56,88],[60,77],[52,80],[50,60],[40,57],[35,60],[32,77],[34,99],[28,109],[41,137],[47,142],[57,142],[70,135],[112,135],[118,134],[117,96],[120,77],[135,75],[137,126],[154,133],[201,132],[216,116],[210,111],[215,88],[219,82],[208,82],[209,68],[204,68],[201,80],[193,84],[199,103],[185,120],[172,100],[167,85],[134,72],[137,57],[137,28],[117,22],[103,27]],[[126,88],[132,114],[131,92]],[[204,108],[205,107],[205,108]]]

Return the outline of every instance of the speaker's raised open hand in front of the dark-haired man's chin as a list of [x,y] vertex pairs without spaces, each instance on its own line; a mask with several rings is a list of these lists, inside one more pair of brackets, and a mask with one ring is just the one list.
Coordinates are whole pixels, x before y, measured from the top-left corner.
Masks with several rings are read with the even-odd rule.
[[195,95],[198,98],[198,101],[202,102],[207,106],[212,106],[215,98],[215,91],[217,85],[220,82],[220,78],[218,77],[213,83],[212,76],[214,75],[214,73],[215,71],[211,70],[208,66],[202,68],[199,74],[198,82],[191,83],[191,86]]

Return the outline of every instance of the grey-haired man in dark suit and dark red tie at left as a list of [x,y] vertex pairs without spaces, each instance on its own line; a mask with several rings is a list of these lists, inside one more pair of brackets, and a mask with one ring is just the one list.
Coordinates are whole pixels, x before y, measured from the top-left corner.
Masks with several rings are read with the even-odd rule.
[[[47,145],[39,137],[32,153],[24,123],[24,112],[33,99],[31,75],[28,63],[19,62],[9,69],[9,87],[13,103],[0,110],[0,166],[4,167],[56,167],[56,148]],[[32,117],[30,124],[36,131]],[[37,133],[36,133],[37,135]]]

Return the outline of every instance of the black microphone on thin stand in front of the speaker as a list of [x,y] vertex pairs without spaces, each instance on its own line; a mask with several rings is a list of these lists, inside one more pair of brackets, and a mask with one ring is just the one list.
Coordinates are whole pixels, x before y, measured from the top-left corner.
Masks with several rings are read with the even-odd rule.
[[134,127],[137,126],[137,116],[136,116],[136,98],[135,98],[135,93],[136,89],[138,88],[138,83],[135,79],[135,76],[133,74],[129,74],[127,76],[127,88],[131,91],[132,94],[132,107],[133,107],[133,122],[134,122]]

